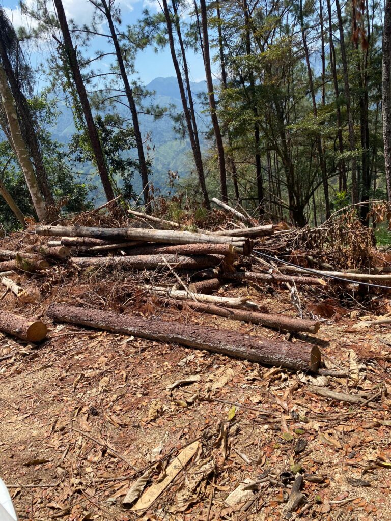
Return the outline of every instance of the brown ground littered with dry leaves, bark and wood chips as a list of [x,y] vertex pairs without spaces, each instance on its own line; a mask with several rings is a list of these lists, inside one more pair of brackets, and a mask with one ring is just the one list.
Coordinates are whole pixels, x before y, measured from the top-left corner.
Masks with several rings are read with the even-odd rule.
[[[288,290],[279,300],[250,291],[294,315]],[[2,303],[15,310],[12,299]],[[38,317],[44,306],[18,312]],[[210,315],[168,308],[164,318],[284,340]],[[0,334],[0,469],[20,519],[391,519],[390,327],[330,318],[297,335],[319,345],[329,369],[350,369],[314,378],[43,320],[40,345]],[[368,403],[323,398],[316,386]],[[123,507],[140,476],[144,490],[164,480],[189,445],[196,453],[146,511]],[[297,475],[304,497],[287,511]]]

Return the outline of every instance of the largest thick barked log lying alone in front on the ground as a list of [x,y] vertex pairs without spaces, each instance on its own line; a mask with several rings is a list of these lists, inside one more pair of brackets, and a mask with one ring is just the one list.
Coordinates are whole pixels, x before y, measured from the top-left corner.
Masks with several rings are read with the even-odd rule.
[[60,322],[131,334],[169,344],[181,344],[189,348],[204,349],[295,370],[316,372],[321,361],[319,348],[308,343],[252,337],[225,329],[188,326],[155,317],[144,319],[63,304],[51,304],[47,309],[47,316]]

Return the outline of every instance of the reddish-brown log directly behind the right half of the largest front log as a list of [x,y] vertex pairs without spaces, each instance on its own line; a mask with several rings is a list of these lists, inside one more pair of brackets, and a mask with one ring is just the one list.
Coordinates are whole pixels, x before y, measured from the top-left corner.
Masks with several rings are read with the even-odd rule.
[[232,320],[243,320],[252,324],[271,327],[274,329],[284,329],[285,331],[303,331],[306,333],[317,333],[320,324],[317,320],[306,320],[303,318],[286,317],[284,315],[268,315],[267,313],[257,313],[247,311],[247,309],[230,309],[228,307],[215,306],[213,304],[201,304],[192,300],[182,301],[181,304],[195,309],[202,313],[210,313]]

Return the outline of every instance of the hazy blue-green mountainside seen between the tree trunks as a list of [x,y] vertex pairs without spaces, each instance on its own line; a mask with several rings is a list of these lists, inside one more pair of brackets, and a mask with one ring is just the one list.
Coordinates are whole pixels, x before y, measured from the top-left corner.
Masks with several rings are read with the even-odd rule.
[[[182,110],[179,88],[176,78],[155,78],[146,89],[154,91],[153,104],[166,107],[175,105],[178,110]],[[191,90],[196,111],[200,114],[202,107],[198,99],[198,94],[206,92],[206,82],[191,82]],[[65,106],[64,102],[58,102],[58,108],[62,114],[58,117],[57,124],[51,129],[53,138],[59,142],[67,143],[72,134],[76,132],[71,111]],[[127,114],[126,109],[120,110],[121,114]],[[206,130],[205,119],[200,115],[198,121],[201,144],[203,142],[202,133]],[[146,136],[149,133],[151,150],[145,150],[148,157],[153,160],[153,176],[151,178],[155,187],[165,191],[167,182],[167,171],[178,171],[181,178],[185,177],[192,168],[191,148],[188,139],[181,140],[173,130],[173,121],[169,116],[154,120],[152,116],[140,115],[141,131]],[[131,153],[137,156],[136,150]],[[87,173],[90,168],[85,168]],[[138,176],[134,179],[136,192],[141,191],[141,182]]]

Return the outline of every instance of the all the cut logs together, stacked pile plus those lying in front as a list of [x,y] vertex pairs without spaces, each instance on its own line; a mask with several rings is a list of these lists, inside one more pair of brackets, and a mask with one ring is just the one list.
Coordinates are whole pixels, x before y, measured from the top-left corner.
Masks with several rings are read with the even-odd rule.
[[[132,210],[131,213],[139,217],[138,212]],[[197,229],[190,232],[180,230],[175,222],[140,215],[155,221],[155,225],[174,229],[38,226],[35,229],[36,234],[51,240],[35,244],[25,251],[0,250],[0,260],[3,261],[0,263],[0,271],[4,271],[0,273],[0,281],[8,290],[20,296],[23,290],[11,278],[15,270],[42,272],[53,263],[74,265],[80,270],[104,268],[114,273],[118,268],[164,268],[175,277],[177,283],[174,287],[144,284],[140,288],[160,299],[175,301],[178,307],[191,308],[197,312],[261,324],[277,330],[310,333],[319,330],[319,322],[316,320],[261,313],[259,306],[249,297],[213,294],[221,288],[224,280],[324,284],[321,279],[313,277],[235,270],[234,262],[239,256],[251,255],[254,238],[273,234],[272,225],[218,232]],[[142,279],[138,277],[137,280],[141,284]],[[187,286],[184,280],[191,282]],[[161,318],[145,320],[136,315],[58,303],[52,303],[47,308],[46,315],[54,321],[132,334],[155,341],[179,343],[191,348],[296,370],[316,372],[320,365],[319,349],[304,342],[271,340],[227,329],[188,326]],[[45,338],[47,329],[41,321],[29,321],[0,312],[0,330],[23,340],[38,342]]]

